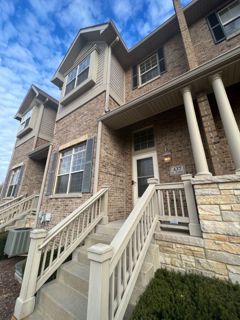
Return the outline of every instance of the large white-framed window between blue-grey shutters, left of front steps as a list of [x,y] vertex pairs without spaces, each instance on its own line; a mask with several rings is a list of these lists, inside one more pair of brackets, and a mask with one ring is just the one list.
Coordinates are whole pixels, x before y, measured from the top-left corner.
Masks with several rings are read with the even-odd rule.
[[86,144],[61,153],[55,194],[82,191],[85,157]]

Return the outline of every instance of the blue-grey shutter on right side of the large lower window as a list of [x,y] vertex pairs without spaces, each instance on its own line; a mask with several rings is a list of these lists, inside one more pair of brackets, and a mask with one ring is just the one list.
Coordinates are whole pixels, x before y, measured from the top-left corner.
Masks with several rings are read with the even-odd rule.
[[93,148],[94,137],[87,140],[82,193],[90,192],[91,188]]

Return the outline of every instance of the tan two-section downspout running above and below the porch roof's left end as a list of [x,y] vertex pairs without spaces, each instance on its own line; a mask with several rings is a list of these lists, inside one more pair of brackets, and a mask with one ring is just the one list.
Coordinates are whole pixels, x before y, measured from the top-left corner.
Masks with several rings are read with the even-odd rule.
[[[110,66],[111,66],[111,51],[112,47],[118,42],[119,37],[116,36],[116,39],[108,47],[108,62],[107,62],[107,82],[106,82],[106,98],[105,98],[105,109],[104,112],[108,112],[109,104],[109,87],[110,87]],[[100,149],[101,149],[101,137],[102,137],[102,122],[98,123],[98,139],[97,139],[97,150],[96,150],[96,162],[95,162],[95,174],[93,182],[93,194],[98,192],[98,177],[99,177],[99,163],[100,163]]]

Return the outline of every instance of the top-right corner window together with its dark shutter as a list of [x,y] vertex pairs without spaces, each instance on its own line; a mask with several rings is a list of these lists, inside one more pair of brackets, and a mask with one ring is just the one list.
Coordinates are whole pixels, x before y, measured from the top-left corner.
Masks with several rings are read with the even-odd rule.
[[211,13],[207,23],[215,44],[240,30],[240,0],[236,0],[218,12]]

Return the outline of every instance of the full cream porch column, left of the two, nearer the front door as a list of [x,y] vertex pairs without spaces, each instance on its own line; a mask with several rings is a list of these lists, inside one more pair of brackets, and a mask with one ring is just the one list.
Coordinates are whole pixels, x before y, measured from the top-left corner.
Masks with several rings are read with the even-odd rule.
[[196,114],[194,111],[193,100],[191,95],[191,87],[185,87],[181,90],[183,95],[184,107],[188,123],[188,131],[190,135],[193,157],[196,166],[196,176],[212,176],[208,170],[207,160],[200,136]]

